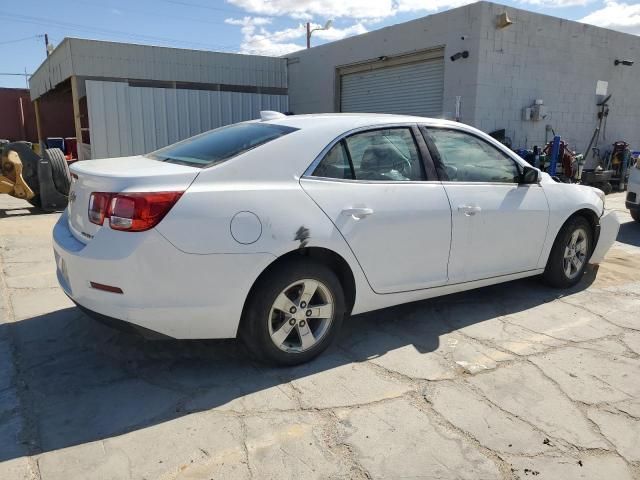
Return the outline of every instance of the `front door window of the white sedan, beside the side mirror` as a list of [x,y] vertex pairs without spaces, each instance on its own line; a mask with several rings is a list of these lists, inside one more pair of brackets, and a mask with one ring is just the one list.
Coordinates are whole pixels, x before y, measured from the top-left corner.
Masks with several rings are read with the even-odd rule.
[[493,145],[466,132],[430,128],[451,182],[518,183],[516,162]]

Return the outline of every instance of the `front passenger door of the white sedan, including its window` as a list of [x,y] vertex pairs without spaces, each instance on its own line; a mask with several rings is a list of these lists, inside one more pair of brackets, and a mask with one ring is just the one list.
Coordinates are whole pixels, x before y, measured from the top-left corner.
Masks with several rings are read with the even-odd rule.
[[521,184],[520,166],[472,133],[423,129],[452,209],[449,282],[534,270],[549,206],[538,184]]

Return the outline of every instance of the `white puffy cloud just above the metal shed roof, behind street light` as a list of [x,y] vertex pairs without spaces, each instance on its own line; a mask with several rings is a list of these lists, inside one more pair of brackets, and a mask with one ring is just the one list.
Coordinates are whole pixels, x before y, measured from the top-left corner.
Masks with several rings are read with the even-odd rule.
[[[242,44],[240,51],[256,55],[285,55],[305,48],[306,25],[299,24],[296,27],[285,28],[269,32],[265,26],[271,23],[270,18],[244,17],[227,18],[225,23],[241,26]],[[311,23],[311,28],[320,28],[321,25]],[[366,27],[362,23],[356,23],[346,28],[330,28],[329,30],[316,30],[313,38],[328,41],[340,40],[351,35],[365,33]],[[296,42],[296,40],[300,40]]]

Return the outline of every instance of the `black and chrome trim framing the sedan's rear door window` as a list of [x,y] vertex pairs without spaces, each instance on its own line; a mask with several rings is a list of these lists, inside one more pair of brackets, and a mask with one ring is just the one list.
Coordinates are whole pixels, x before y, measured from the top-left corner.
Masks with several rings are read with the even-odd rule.
[[[420,157],[420,164],[422,175],[424,176],[423,180],[358,180],[355,178],[355,170],[353,168],[353,161],[351,159],[351,153],[349,152],[349,148],[346,144],[346,139],[353,135],[376,131],[376,130],[389,130],[389,129],[398,129],[405,128],[411,132],[411,136],[413,137],[413,141],[416,146],[416,150],[418,151],[418,156]],[[326,157],[326,155],[331,151],[331,149],[338,143],[343,144],[343,148],[347,153],[347,157],[349,159],[349,166],[351,168],[351,176],[352,178],[331,178],[331,177],[320,177],[314,176],[313,173],[317,169],[318,165],[322,160]],[[424,141],[423,135],[420,133],[420,129],[417,123],[385,123],[380,125],[367,125],[363,127],[354,128],[347,132],[343,132],[336,138],[334,138],[331,142],[325,146],[322,151],[316,156],[316,158],[311,162],[309,167],[304,171],[302,177],[304,179],[311,180],[321,180],[321,181],[333,181],[333,182],[358,182],[358,183],[380,183],[380,184],[406,184],[406,183],[427,183],[427,182],[439,182],[439,178],[436,174],[436,169],[433,165],[433,160],[431,158],[430,152],[427,148],[427,145]]]

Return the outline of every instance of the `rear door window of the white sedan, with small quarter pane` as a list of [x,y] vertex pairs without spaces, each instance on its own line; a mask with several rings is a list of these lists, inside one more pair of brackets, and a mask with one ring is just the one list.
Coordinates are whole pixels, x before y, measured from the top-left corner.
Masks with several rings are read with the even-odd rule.
[[334,145],[313,175],[377,181],[425,179],[410,128],[355,133]]

